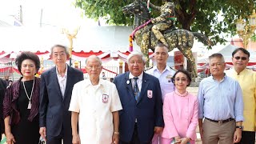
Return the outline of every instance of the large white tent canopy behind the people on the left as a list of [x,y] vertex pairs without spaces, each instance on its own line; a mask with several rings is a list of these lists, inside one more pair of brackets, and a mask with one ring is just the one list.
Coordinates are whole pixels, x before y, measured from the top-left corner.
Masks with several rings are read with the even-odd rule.
[[[69,46],[66,34],[60,28],[0,27],[0,50],[46,51],[55,44]],[[70,30],[72,32],[72,30]],[[129,50],[130,26],[81,27],[73,40],[74,51],[121,51]],[[134,42],[134,50],[139,47]]]

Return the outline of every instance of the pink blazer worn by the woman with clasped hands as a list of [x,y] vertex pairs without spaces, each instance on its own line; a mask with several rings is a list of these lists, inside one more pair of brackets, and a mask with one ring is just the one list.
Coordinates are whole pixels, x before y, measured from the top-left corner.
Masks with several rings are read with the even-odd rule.
[[198,98],[192,94],[181,97],[171,92],[166,94],[163,104],[165,127],[162,138],[189,137],[196,139],[198,126]]

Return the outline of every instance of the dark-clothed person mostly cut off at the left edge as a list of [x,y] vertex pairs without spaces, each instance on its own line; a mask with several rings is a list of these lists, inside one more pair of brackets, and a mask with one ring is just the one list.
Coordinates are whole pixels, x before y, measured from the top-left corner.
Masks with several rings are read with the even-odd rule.
[[2,116],[2,101],[3,101],[3,98],[5,97],[5,93],[6,93],[6,82],[2,78],[0,78],[0,130],[1,130],[0,141],[2,139],[2,134],[5,132],[5,125],[4,125],[3,116]]

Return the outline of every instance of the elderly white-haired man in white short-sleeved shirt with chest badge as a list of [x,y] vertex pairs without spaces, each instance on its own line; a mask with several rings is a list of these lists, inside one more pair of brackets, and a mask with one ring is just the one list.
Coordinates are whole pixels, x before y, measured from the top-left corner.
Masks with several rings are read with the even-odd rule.
[[122,110],[118,90],[100,78],[102,61],[97,56],[86,59],[86,71],[90,78],[74,85],[70,102],[72,143],[118,143],[118,110]]

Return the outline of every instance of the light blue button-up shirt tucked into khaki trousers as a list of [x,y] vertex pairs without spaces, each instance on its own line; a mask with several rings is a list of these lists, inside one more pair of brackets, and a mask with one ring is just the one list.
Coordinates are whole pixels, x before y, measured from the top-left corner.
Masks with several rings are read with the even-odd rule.
[[198,89],[199,118],[216,121],[234,118],[243,121],[242,90],[237,81],[224,76],[221,82],[210,76],[200,82]]

